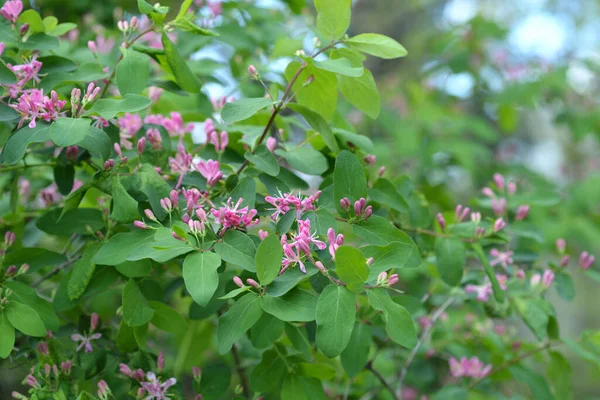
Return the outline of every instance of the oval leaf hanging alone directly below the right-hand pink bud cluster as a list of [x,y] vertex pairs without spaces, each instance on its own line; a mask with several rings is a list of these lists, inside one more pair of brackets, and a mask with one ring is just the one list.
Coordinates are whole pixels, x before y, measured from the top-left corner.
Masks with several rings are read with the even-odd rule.
[[449,286],[458,286],[465,269],[467,250],[458,238],[438,237],[435,239],[437,269],[442,280]]

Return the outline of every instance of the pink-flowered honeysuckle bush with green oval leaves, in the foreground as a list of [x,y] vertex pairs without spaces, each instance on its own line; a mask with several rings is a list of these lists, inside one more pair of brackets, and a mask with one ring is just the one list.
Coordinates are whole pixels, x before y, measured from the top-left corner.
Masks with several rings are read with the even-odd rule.
[[[287,3],[138,0],[115,27],[4,3],[13,397],[569,398],[561,350],[598,365],[600,337],[561,339],[547,297],[594,256],[535,232],[534,180],[440,210],[378,165],[338,103],[377,118],[366,55],[406,50],[349,36],[349,0]],[[237,87],[209,99],[219,43]]]

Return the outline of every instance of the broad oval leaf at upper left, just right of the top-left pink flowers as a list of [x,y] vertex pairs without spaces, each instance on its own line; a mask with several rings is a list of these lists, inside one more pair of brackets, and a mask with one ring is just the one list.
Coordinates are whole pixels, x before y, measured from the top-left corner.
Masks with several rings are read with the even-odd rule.
[[150,63],[148,57],[132,49],[123,50],[123,59],[117,64],[116,78],[119,93],[139,94],[148,86]]

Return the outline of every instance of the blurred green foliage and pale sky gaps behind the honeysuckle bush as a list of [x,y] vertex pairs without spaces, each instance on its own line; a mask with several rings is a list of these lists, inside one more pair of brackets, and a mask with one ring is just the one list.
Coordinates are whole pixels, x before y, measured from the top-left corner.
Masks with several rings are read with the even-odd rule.
[[[180,36],[178,46],[192,55],[192,67],[205,82],[206,96],[173,98],[187,119],[208,117],[211,96],[262,95],[248,82],[247,65],[281,72],[287,64],[281,57],[311,48],[312,2],[252,2],[264,12],[240,14],[239,25],[227,29],[211,22],[221,34],[216,41]],[[42,16],[78,22],[81,41],[103,35],[101,25],[116,26],[124,14],[137,12],[135,0],[32,3]],[[180,2],[171,3],[177,10]],[[378,157],[373,174],[380,165],[392,177],[407,174],[422,193],[414,201],[449,211],[457,203],[484,207],[472,199],[501,172],[535,189],[530,218],[541,229],[523,237],[520,248],[533,251],[565,237],[573,252],[600,253],[600,2],[355,0],[352,12],[350,36],[382,33],[409,51],[400,61],[368,60],[381,91],[377,120],[343,103],[335,117],[338,126],[353,126],[372,139]],[[247,17],[252,24],[245,24]],[[275,34],[282,26],[289,37]],[[266,77],[281,80],[279,74]],[[234,92],[237,80],[241,93]],[[433,220],[429,211],[416,210],[411,218]],[[574,277],[575,300],[554,299],[566,338],[600,329],[600,273]],[[411,277],[404,279],[410,285]],[[600,396],[598,366],[573,357],[573,372],[575,398]]]

